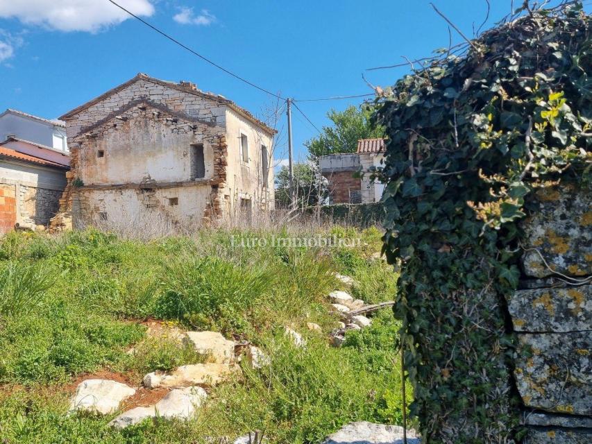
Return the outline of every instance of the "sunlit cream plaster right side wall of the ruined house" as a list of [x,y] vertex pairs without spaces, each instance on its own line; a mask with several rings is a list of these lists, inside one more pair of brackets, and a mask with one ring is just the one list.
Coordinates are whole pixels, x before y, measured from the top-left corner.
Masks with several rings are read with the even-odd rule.
[[[235,110],[226,110],[226,140],[228,141],[228,182],[223,190],[230,200],[232,212],[240,198],[261,202],[262,209],[270,210],[274,205],[273,197],[273,136],[258,128]],[[241,153],[241,134],[248,139],[248,162],[243,161]],[[262,151],[266,146],[269,154],[269,173],[267,187],[264,187],[262,174]]]

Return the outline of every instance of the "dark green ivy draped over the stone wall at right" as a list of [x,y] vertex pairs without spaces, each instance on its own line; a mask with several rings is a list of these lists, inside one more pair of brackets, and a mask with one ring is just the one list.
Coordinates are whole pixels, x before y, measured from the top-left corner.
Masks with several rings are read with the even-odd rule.
[[428,443],[518,437],[500,307],[530,191],[590,179],[590,42],[581,2],[528,10],[462,58],[443,49],[375,114],[389,138],[384,250],[403,261],[395,309]]

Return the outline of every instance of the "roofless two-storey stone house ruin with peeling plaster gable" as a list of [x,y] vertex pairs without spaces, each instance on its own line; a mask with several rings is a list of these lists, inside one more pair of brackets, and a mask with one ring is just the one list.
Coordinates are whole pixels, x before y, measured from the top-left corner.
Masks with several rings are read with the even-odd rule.
[[275,130],[223,96],[138,74],[60,119],[71,171],[54,225],[173,223],[273,207]]

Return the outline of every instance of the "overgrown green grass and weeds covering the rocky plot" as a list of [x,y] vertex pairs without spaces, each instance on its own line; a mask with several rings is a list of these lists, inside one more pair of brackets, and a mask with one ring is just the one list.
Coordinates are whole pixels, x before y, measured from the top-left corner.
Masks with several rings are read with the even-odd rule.
[[[338,319],[326,295],[343,288],[333,272],[353,276],[350,291],[366,302],[396,294],[396,273],[369,259],[380,232],[334,227],[325,234],[362,244],[319,249],[241,248],[231,234],[271,238],[204,230],[140,242],[87,230],[0,239],[0,442],[205,443],[262,429],[272,443],[318,443],[353,420],[400,423],[399,325],[391,311],[349,332],[342,348],[328,345]],[[192,348],[147,337],[149,318],[248,339],[271,366],[245,367],[187,423],[114,432],[105,427],[113,416],[66,416],[67,384],[81,374],[110,370],[139,384],[149,371],[203,361]],[[323,334],[309,332],[307,322]],[[306,348],[285,339],[285,325],[305,336]]]

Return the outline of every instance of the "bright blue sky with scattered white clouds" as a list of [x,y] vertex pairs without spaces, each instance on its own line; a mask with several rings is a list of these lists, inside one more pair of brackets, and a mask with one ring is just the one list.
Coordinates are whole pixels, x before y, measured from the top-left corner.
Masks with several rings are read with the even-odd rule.
[[[371,67],[430,56],[448,46],[448,25],[428,0],[115,0],[180,42],[282,97],[368,94],[393,85],[408,67]],[[469,37],[487,15],[485,0],[432,0]],[[510,12],[489,0],[484,28]],[[515,4],[521,1],[515,0]],[[557,3],[552,1],[551,4]],[[462,37],[453,32],[453,43]],[[108,0],[0,0],[0,112],[15,108],[54,119],[143,72],[188,80],[260,117],[277,99],[229,76],[129,17]],[[294,157],[329,124],[331,108],[363,99],[297,103]],[[274,157],[287,157],[282,115]]]

